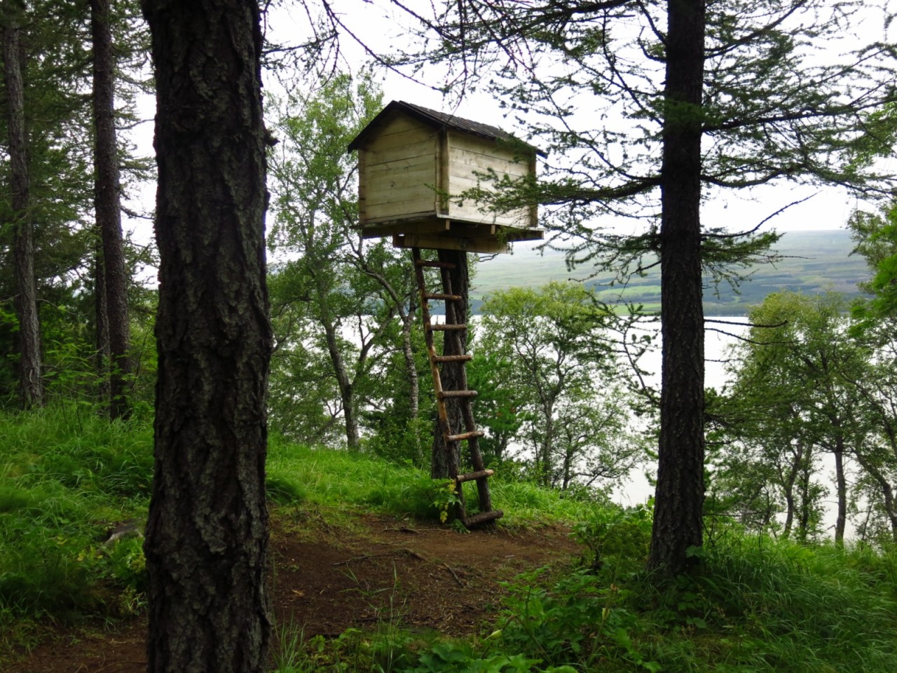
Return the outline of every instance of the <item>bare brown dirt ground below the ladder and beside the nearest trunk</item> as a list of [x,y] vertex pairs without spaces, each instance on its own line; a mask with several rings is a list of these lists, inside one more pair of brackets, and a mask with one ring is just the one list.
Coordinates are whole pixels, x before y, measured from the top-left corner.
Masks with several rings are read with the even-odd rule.
[[[429,521],[359,513],[274,511],[269,547],[274,619],[306,641],[389,623],[412,631],[475,634],[501,581],[579,554],[557,526],[459,533]],[[4,673],[144,673],[145,616],[58,628]],[[273,639],[275,640],[275,639]],[[273,643],[273,647],[276,643]]]

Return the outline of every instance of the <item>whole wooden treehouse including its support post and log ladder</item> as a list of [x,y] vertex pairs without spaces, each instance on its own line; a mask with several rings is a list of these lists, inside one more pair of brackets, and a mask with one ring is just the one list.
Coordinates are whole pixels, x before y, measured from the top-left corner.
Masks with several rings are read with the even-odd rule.
[[[536,172],[536,147],[523,144],[500,128],[457,118],[412,103],[392,101],[349,145],[358,151],[359,228],[364,238],[392,237],[398,248],[412,249],[415,277],[420,292],[427,354],[439,410],[440,432],[446,451],[460,455],[466,442],[471,469],[448,460],[450,476],[460,503],[458,518],[468,528],[494,525],[501,510],[492,509],[488,478],[480,452],[471,402],[476,391],[467,389],[465,352],[467,287],[452,286],[466,252],[507,252],[514,240],[540,240],[536,206],[496,213],[470,198],[472,188],[490,189],[490,175],[518,179]],[[421,249],[437,249],[440,261],[425,259]],[[451,251],[451,252],[446,252]],[[440,273],[440,291],[427,290],[425,271]],[[434,323],[430,302],[445,303],[445,322]],[[434,333],[443,333],[442,354],[437,354]],[[451,385],[443,387],[443,382]],[[449,414],[457,405],[459,414]],[[452,418],[459,416],[459,426]],[[475,481],[479,513],[468,516],[462,485]]]

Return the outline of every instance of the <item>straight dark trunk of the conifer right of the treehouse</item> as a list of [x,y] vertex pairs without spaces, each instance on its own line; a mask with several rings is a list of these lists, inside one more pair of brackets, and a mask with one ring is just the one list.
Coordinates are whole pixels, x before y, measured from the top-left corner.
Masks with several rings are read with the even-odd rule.
[[701,546],[704,325],[701,291],[701,94],[704,0],[667,3],[661,166],[661,370],[658,485],[649,567],[684,572]]

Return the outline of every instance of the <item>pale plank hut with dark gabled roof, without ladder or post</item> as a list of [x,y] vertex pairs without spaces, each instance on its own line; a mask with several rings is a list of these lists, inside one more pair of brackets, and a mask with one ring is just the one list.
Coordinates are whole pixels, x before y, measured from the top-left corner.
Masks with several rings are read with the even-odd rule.
[[358,151],[359,209],[365,238],[391,236],[399,248],[507,252],[539,240],[536,205],[494,213],[466,190],[494,188],[480,176],[536,173],[544,153],[500,128],[392,101],[349,145]]

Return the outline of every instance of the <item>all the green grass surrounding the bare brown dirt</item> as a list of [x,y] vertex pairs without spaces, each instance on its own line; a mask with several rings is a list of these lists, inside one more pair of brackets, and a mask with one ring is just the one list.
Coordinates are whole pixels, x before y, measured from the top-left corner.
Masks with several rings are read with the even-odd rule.
[[[109,526],[144,520],[152,470],[147,424],[109,424],[91,410],[0,415],[0,655],[48,624],[143,606],[140,538],[105,546]],[[509,582],[483,634],[452,640],[402,628],[400,588],[370,630],[306,639],[277,625],[279,673],[299,671],[665,671],[891,673],[897,670],[897,549],[797,545],[719,529],[701,572],[660,583],[644,571],[651,516],[563,497],[500,470],[506,527],[565,522],[588,550],[578,566]],[[274,438],[274,509],[435,518],[420,469]]]

